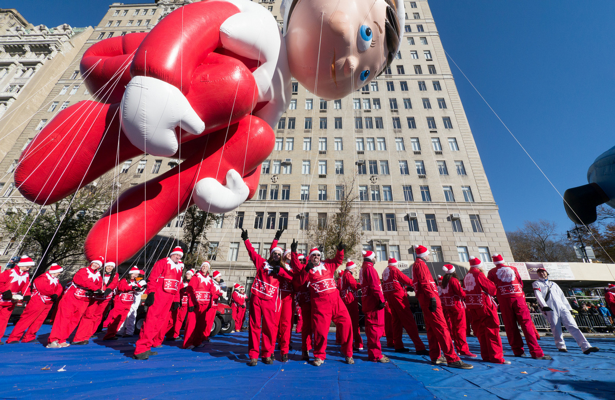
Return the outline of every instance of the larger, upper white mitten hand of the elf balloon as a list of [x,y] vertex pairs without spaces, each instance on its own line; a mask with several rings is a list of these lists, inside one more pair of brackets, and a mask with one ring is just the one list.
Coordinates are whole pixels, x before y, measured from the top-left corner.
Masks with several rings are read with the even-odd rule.
[[170,157],[179,142],[175,127],[192,135],[205,130],[196,111],[180,89],[156,78],[130,79],[120,105],[122,130],[130,143],[145,153]]

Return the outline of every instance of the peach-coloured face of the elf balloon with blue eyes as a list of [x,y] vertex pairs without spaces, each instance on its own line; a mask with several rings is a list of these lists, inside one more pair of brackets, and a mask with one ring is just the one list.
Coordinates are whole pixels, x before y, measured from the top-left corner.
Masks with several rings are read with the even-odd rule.
[[387,63],[386,8],[384,0],[298,0],[285,36],[293,76],[329,100],[368,84]]

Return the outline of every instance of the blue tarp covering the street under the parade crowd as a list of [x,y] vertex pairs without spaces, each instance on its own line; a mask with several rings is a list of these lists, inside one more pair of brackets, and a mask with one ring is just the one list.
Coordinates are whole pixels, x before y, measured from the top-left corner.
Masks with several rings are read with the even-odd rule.
[[[247,367],[248,339],[243,332],[218,335],[194,350],[181,349],[181,342],[164,342],[153,349],[159,354],[147,361],[130,358],[136,336],[47,349],[49,332],[50,327],[43,326],[36,342],[0,346],[0,398],[615,399],[615,339],[610,338],[592,338],[590,343],[601,351],[585,356],[572,339],[566,340],[569,353],[558,353],[553,338],[543,337],[539,343],[554,359],[539,361],[512,358],[504,337],[505,357],[512,365],[466,359],[474,369],[459,370],[392,349],[383,349],[391,358],[389,364],[367,361],[363,350],[349,366],[333,344],[335,334],[329,335],[327,361],[320,367],[301,361],[297,334],[288,362]],[[478,354],[477,340],[470,337],[468,342]]]

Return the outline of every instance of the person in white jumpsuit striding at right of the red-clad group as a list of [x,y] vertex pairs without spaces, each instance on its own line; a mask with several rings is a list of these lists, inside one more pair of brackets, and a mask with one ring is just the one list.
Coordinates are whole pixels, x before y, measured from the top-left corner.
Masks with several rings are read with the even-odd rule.
[[573,308],[566,300],[564,292],[561,291],[557,283],[549,281],[549,273],[544,268],[538,268],[538,281],[534,281],[532,287],[534,288],[534,295],[536,300],[542,308],[542,313],[546,316],[549,325],[551,326],[551,332],[555,338],[555,346],[557,350],[566,352],[566,343],[564,342],[563,335],[561,334],[561,324],[566,327],[566,330],[573,335],[577,345],[581,347],[584,354],[595,353],[600,350],[597,347],[587,342],[587,339],[579,330],[574,318],[569,310]]

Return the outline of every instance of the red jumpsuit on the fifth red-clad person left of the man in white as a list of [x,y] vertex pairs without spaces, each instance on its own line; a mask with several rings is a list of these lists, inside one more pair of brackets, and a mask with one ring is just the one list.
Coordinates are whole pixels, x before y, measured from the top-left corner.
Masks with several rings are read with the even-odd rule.
[[[419,337],[414,314],[410,310],[410,302],[406,293],[406,286],[412,286],[412,279],[408,278],[396,266],[387,266],[383,271],[383,293],[391,308],[391,327],[395,349],[403,348],[402,327],[415,345],[416,351],[425,350],[423,340]],[[388,341],[388,338],[387,338]]]

